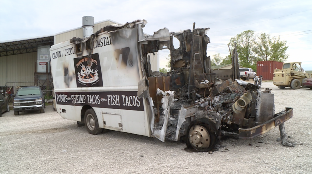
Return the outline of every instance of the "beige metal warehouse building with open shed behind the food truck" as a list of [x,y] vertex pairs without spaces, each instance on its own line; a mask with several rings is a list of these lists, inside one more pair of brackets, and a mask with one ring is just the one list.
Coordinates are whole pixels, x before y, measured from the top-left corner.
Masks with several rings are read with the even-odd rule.
[[[34,85],[41,86],[43,90],[51,90],[51,45],[73,37],[84,38],[88,32],[94,34],[107,25],[119,24],[110,19],[94,23],[92,16],[84,16],[82,19],[83,25],[72,30],[37,38],[0,42],[0,92],[12,94],[16,92],[16,86]],[[90,28],[92,29],[89,30]],[[159,71],[159,54],[151,54],[151,62],[154,62],[153,71]]]

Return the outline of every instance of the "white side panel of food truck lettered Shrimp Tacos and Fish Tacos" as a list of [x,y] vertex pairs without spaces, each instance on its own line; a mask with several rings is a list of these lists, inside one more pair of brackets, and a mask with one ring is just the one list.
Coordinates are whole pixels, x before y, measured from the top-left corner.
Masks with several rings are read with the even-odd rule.
[[51,47],[56,108],[61,117],[82,121],[81,110],[89,105],[100,128],[151,136],[150,106],[137,96],[142,78],[137,38],[137,27],[121,28],[98,34],[89,51],[78,46],[79,52],[73,41]]

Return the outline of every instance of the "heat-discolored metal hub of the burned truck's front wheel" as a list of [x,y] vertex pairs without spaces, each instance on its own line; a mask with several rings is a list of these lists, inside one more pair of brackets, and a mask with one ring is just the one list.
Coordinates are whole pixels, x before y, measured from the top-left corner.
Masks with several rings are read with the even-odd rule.
[[195,125],[191,127],[188,136],[189,142],[195,149],[207,149],[210,145],[210,135],[204,126]]

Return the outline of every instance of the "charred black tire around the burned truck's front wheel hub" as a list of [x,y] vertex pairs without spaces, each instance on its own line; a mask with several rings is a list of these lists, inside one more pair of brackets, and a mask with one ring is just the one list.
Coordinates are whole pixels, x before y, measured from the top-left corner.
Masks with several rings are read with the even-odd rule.
[[[190,129],[192,129],[193,126],[202,126],[205,128],[205,131],[209,133],[210,135],[209,147],[198,148],[194,146],[193,144],[191,144],[189,133],[190,133]],[[199,120],[192,121],[191,124],[188,126],[188,130],[186,132],[186,145],[188,148],[195,149],[198,152],[209,152],[215,149],[217,140],[218,140],[217,129],[216,129],[215,123],[213,123],[212,121],[209,121],[207,119],[199,119]]]

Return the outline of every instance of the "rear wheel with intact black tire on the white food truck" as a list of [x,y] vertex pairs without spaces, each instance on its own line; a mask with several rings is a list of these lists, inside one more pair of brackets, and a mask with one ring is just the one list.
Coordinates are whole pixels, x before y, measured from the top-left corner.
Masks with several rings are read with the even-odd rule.
[[85,112],[84,120],[85,128],[89,132],[89,134],[97,135],[103,131],[102,128],[99,128],[99,121],[93,109],[88,109]]

